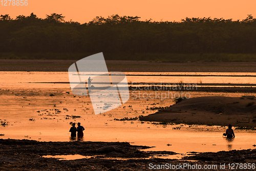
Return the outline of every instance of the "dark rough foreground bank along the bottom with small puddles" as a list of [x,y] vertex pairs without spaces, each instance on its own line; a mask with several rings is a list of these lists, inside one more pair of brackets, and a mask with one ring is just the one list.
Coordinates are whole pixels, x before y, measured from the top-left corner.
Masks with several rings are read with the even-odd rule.
[[[173,152],[143,152],[148,146],[131,145],[128,142],[39,142],[34,140],[0,139],[0,170],[152,170],[163,165],[179,165],[183,170],[190,167],[217,166],[228,168],[230,163],[255,163],[256,150],[241,150],[218,153],[195,153],[182,160],[159,159],[153,155],[172,155]],[[77,160],[44,158],[44,155],[80,154],[94,156]],[[111,159],[109,159],[111,157]],[[115,159],[117,158],[117,159]],[[196,161],[191,161],[196,160]],[[254,164],[253,164],[254,165]],[[231,166],[231,165],[230,165]],[[243,166],[245,169],[245,166]],[[239,170],[243,170],[239,169]],[[153,169],[154,170],[154,169]],[[202,169],[193,169],[202,170]],[[248,170],[248,168],[247,168]]]

